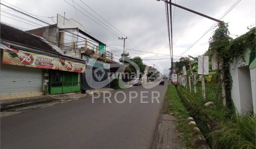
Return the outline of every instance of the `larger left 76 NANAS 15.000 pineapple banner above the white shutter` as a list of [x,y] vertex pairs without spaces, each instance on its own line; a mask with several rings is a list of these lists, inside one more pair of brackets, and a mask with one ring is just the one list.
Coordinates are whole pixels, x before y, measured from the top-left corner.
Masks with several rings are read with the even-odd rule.
[[58,58],[22,51],[15,48],[10,48],[8,50],[4,49],[2,63],[46,69],[58,69]]

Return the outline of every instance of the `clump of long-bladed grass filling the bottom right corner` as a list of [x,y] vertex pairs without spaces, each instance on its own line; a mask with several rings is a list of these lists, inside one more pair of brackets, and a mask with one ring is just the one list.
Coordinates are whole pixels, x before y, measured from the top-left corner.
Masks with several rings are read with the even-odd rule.
[[255,116],[243,117],[234,110],[228,112],[231,116],[214,123],[215,128],[207,138],[212,138],[215,148],[255,149]]

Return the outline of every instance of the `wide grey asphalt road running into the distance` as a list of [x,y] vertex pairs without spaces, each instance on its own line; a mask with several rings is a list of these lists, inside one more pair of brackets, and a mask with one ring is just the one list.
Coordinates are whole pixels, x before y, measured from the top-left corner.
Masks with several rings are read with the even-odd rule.
[[[150,148],[158,124],[160,110],[167,89],[165,85],[152,84],[121,90],[126,94],[124,103],[114,100],[103,103],[103,95],[68,103],[35,109],[1,118],[1,149],[30,148]],[[129,103],[129,91],[138,97]],[[143,101],[140,103],[141,91]],[[158,91],[160,104],[151,103],[151,92]],[[132,93],[134,96],[135,93]],[[108,94],[106,94],[108,96]],[[156,93],[155,93],[156,96]],[[119,93],[122,101],[124,95]]]

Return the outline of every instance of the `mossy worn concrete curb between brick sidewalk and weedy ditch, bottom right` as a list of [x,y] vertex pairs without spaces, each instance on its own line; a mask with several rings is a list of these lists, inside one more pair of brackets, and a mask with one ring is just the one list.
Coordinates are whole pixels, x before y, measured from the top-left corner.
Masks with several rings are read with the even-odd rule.
[[203,134],[200,129],[197,127],[196,122],[192,117],[188,117],[185,120],[185,124],[190,128],[192,133],[192,149],[210,149]]

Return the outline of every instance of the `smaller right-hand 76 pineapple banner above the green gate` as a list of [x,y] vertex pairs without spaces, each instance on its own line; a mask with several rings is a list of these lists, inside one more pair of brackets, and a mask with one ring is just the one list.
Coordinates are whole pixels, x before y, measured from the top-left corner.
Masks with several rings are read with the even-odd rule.
[[59,70],[85,73],[85,64],[63,60],[59,58]]

